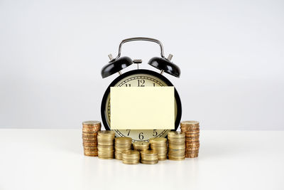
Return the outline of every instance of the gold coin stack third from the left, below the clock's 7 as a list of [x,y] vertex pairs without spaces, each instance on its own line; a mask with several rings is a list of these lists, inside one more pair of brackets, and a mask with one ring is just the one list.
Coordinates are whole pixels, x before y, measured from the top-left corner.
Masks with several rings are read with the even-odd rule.
[[130,150],[131,144],[131,137],[116,137],[114,139],[115,158],[122,159],[122,152],[125,150]]

